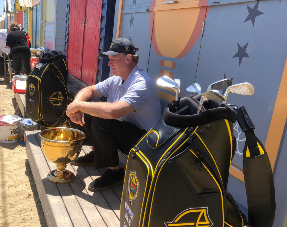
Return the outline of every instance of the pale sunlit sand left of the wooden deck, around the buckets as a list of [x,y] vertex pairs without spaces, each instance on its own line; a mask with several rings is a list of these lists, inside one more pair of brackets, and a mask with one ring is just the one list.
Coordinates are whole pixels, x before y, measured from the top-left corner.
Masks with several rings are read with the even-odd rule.
[[[0,82],[0,115],[21,116],[9,83]],[[46,227],[47,223],[26,155],[19,142],[0,143],[0,227]]]

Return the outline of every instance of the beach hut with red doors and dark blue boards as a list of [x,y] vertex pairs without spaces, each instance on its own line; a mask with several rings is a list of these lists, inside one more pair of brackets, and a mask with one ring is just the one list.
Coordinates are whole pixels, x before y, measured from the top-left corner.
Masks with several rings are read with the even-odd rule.
[[83,86],[109,77],[107,61],[99,56],[112,42],[115,0],[70,0],[67,5],[68,70]]

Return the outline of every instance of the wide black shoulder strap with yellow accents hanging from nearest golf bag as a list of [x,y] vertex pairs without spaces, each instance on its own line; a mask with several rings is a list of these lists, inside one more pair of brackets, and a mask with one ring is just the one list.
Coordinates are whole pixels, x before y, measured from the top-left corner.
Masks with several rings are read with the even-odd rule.
[[[245,133],[243,175],[247,194],[248,222],[256,227],[271,227],[275,217],[275,189],[267,152],[254,133],[244,106],[235,109],[237,122]],[[247,225],[248,226],[248,225]]]

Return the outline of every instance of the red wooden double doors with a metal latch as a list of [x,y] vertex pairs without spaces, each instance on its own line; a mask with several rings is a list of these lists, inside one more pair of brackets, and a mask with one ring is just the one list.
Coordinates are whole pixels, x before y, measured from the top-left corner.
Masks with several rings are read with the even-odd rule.
[[96,81],[101,9],[100,0],[70,1],[68,70],[88,85]]

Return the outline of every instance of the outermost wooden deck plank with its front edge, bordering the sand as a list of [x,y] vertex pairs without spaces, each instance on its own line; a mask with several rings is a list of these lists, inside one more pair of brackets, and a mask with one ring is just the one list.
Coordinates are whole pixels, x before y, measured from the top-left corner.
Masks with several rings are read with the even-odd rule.
[[72,227],[73,224],[56,184],[51,184],[47,180],[47,173],[51,169],[48,167],[36,136],[38,133],[26,132],[26,153],[47,224],[48,226]]

